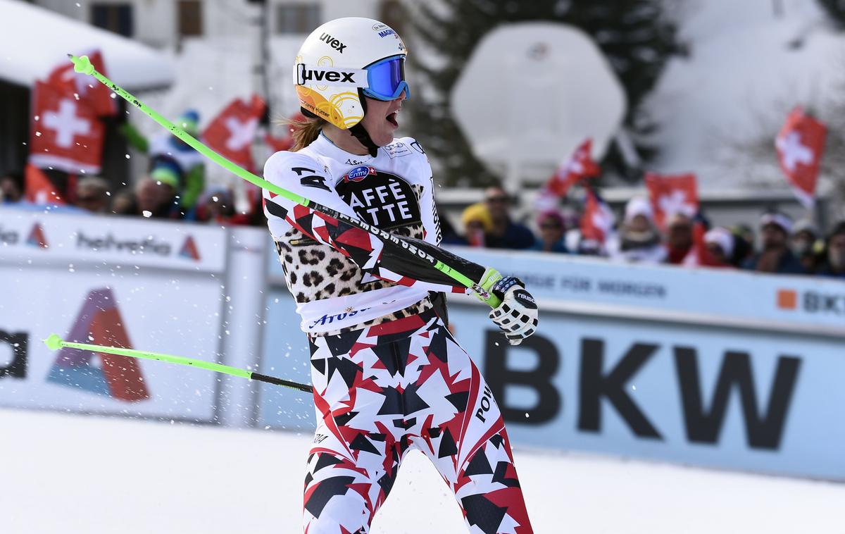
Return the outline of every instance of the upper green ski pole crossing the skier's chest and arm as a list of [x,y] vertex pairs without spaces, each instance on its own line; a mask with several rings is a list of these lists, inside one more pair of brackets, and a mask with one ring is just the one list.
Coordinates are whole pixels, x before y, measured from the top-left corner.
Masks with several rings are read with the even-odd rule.
[[[115,93],[117,93],[117,95],[120,95],[125,101],[128,101],[130,104],[150,116],[150,118],[152,118],[156,123],[159,123],[161,124],[161,126],[167,128],[171,134],[177,136],[177,138],[179,139],[182,139],[194,150],[209,158],[211,161],[214,161],[217,165],[222,166],[224,169],[226,169],[226,171],[232,172],[232,174],[236,175],[237,177],[241,177],[247,182],[253,183],[254,185],[258,186],[259,188],[267,189],[268,191],[270,191],[270,193],[275,193],[285,199],[291,200],[292,202],[295,202],[297,204],[301,204],[311,210],[319,211],[320,213],[324,215],[329,215],[334,219],[339,219],[352,226],[357,226],[358,228],[361,228],[364,232],[373,233],[376,236],[381,237],[382,239],[388,239],[391,242],[400,243],[403,248],[405,248],[406,253],[412,255],[414,258],[426,259],[428,263],[433,265],[434,269],[437,269],[445,275],[450,276],[453,280],[460,283],[461,286],[472,289],[472,291],[477,293],[478,298],[481,299],[482,302],[486,302],[490,307],[497,308],[501,303],[499,297],[496,297],[495,295],[493,295],[492,292],[488,292],[485,288],[482,287],[481,283],[487,282],[488,280],[482,280],[480,281],[481,283],[476,283],[475,281],[472,281],[470,277],[462,274],[461,272],[458,272],[449,265],[444,264],[439,259],[434,258],[431,254],[426,253],[417,247],[414,247],[411,243],[400,241],[400,239],[394,236],[393,234],[384,232],[384,230],[381,230],[376,226],[368,225],[366,222],[359,221],[356,218],[342,214],[339,211],[332,210],[331,208],[326,207],[322,204],[317,204],[316,202],[308,200],[305,197],[298,195],[297,193],[292,193],[291,191],[287,191],[286,189],[280,188],[274,183],[267,182],[266,180],[264,180],[264,178],[258,177],[252,172],[248,172],[246,169],[242,169],[241,167],[232,163],[232,161],[229,161],[222,155],[217,154],[214,150],[211,150],[209,147],[205,146],[197,139],[194,139],[194,137],[185,132],[182,128],[177,127],[177,125],[171,123],[165,117],[162,117],[158,112],[155,112],[154,109],[144,104],[144,102],[139,101],[138,98],[136,98],[134,95],[129,94],[122,87],[112,82],[111,79],[106,78],[106,76],[104,76],[94,68],[94,65],[92,65],[90,60],[88,59],[88,56],[77,57],[72,54],[68,54],[68,57],[70,58],[70,61],[74,63],[74,70],[76,72],[82,74],[90,74],[91,76],[94,76],[95,79],[99,80],[101,84],[106,85],[106,87],[113,90]],[[413,250],[411,248],[413,248]],[[488,272],[490,271],[488,270]]]

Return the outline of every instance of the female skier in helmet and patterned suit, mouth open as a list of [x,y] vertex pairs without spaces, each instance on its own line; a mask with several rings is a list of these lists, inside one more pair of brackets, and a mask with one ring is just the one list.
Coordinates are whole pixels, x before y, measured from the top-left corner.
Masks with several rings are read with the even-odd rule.
[[[510,343],[537,327],[521,281],[437,247],[431,167],[394,139],[409,95],[406,47],[373,19],[332,20],[303,43],[292,151],[264,177],[401,237],[502,300]],[[366,533],[402,458],[417,448],[455,493],[471,532],[532,532],[504,422],[475,364],[446,329],[443,292],[465,292],[384,239],[264,191],[264,211],[311,350],[317,431],[308,456],[307,534]]]

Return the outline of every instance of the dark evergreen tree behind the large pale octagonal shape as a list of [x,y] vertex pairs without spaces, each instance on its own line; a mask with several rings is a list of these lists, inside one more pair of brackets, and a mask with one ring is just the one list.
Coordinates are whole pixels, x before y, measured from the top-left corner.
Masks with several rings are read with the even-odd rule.
[[[626,128],[634,134],[648,134],[655,128],[641,110],[641,103],[657,83],[668,58],[683,52],[676,27],[664,14],[664,0],[442,0],[440,4],[439,8],[423,4],[412,22],[421,44],[440,57],[436,65],[428,65],[411,55],[417,74],[428,81],[434,95],[417,97],[409,107],[415,123],[427,126],[417,129],[418,139],[442,166],[440,176],[445,183],[482,186],[497,181],[472,155],[467,139],[450,115],[449,99],[452,85],[478,41],[498,25],[559,21],[584,30],[608,57],[624,86],[629,103]],[[644,161],[656,154],[645,144],[637,144],[636,149]],[[602,164],[630,176],[615,144]]]

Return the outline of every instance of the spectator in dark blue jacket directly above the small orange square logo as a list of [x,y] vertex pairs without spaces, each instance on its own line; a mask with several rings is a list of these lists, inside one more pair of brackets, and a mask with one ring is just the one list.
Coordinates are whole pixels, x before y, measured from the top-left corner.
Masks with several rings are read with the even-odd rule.
[[789,249],[793,221],[779,211],[766,211],[760,217],[763,248],[743,264],[744,269],[779,275],[804,275],[804,265]]

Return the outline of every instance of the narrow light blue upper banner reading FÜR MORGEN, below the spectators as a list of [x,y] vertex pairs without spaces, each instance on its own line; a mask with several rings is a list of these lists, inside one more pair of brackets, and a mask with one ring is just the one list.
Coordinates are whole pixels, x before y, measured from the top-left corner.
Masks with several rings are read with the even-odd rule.
[[532,295],[574,311],[652,313],[679,322],[754,321],[826,327],[845,335],[845,283],[820,276],[760,275],[744,270],[621,264],[565,254],[453,248],[478,264],[519,276]]

